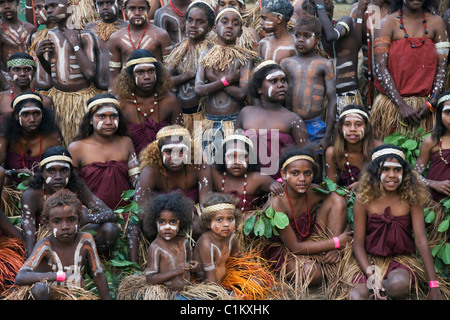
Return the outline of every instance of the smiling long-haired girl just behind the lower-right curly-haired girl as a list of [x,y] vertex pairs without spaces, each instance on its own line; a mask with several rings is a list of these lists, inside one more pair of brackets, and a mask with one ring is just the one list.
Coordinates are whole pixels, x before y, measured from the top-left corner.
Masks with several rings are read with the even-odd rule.
[[370,161],[370,152],[382,144],[373,136],[364,107],[348,105],[342,109],[334,139],[334,145],[325,152],[326,175],[338,185],[356,190],[360,172]]

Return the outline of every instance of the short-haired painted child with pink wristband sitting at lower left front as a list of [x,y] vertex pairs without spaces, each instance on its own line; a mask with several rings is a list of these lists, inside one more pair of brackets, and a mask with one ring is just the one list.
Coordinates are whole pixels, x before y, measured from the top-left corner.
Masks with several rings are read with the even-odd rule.
[[83,288],[85,267],[89,266],[100,298],[109,300],[108,281],[94,238],[78,231],[81,202],[76,195],[65,189],[56,192],[45,202],[43,218],[51,235],[36,244],[16,276],[16,285],[33,285],[33,299],[52,299],[53,293],[59,291],[57,286],[69,291]]

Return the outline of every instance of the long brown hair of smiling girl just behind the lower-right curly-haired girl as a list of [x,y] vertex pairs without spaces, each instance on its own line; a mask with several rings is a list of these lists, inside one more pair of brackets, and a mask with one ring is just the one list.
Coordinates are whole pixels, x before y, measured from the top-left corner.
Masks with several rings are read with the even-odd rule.
[[[348,105],[342,109],[342,112],[345,112],[347,110],[351,109],[357,109],[365,112],[366,114],[369,114],[363,106],[358,105]],[[345,154],[345,146],[347,144],[347,141],[344,138],[344,134],[342,133],[342,126],[344,125],[345,119],[347,116],[343,116],[339,118],[339,120],[336,123],[335,127],[335,133],[334,133],[334,165],[337,168],[340,168],[342,170],[345,170],[345,167],[342,165],[342,160],[344,159]],[[370,124],[370,121],[366,117],[362,117],[364,119],[364,124],[366,126],[366,129],[364,130],[364,137],[362,141],[362,156],[364,163],[367,163],[370,161],[370,153],[373,149],[373,142],[375,140],[375,136],[373,133],[372,125]]]

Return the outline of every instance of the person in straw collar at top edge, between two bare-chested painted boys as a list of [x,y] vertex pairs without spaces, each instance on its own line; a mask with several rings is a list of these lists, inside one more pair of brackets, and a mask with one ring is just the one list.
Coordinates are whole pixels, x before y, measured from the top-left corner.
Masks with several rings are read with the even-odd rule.
[[97,38],[97,80],[96,86],[108,90],[109,78],[109,39],[111,35],[128,26],[128,22],[119,19],[118,0],[97,0],[95,2],[100,20],[88,23],[85,30],[92,30]]

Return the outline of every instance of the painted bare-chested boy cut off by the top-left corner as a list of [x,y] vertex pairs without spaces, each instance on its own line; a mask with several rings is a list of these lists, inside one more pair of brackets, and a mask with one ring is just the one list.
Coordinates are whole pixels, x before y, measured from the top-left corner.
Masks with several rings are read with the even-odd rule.
[[7,61],[16,52],[27,52],[31,43],[31,35],[36,32],[36,27],[31,23],[22,22],[17,14],[19,0],[1,0],[0,14],[0,57],[1,68],[0,87],[10,87],[7,74]]

